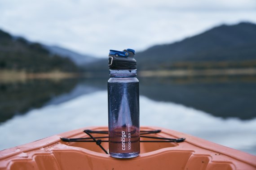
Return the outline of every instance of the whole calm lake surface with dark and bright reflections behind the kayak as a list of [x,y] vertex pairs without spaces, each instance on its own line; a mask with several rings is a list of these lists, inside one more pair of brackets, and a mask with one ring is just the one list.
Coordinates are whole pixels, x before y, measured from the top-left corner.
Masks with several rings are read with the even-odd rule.
[[[256,155],[256,77],[138,79],[141,126],[166,127]],[[107,126],[107,80],[0,83],[0,149]]]

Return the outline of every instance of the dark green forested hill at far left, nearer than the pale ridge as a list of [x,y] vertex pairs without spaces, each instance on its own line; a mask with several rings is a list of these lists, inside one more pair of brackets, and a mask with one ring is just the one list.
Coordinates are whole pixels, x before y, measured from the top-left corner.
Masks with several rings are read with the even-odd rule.
[[69,58],[51,54],[40,43],[31,43],[0,30],[0,70],[26,72],[76,72],[77,66]]

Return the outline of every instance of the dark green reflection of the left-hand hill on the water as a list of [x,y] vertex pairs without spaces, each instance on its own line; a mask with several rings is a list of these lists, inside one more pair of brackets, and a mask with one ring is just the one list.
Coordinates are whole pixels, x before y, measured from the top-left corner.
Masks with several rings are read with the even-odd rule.
[[44,106],[51,98],[69,93],[77,83],[76,79],[0,83],[0,123]]

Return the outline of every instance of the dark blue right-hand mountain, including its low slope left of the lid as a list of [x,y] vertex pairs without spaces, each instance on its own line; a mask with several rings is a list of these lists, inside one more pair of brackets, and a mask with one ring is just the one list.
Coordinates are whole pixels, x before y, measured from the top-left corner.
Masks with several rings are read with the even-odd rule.
[[[256,25],[221,25],[182,41],[156,45],[135,55],[138,70],[256,67]],[[87,71],[107,72],[107,58]]]

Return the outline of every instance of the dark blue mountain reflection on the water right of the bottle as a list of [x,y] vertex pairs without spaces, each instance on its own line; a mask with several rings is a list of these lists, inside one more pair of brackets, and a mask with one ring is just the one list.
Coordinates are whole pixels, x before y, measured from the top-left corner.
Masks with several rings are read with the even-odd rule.
[[256,117],[256,77],[187,77],[141,79],[140,92],[153,100],[175,102],[211,115]]

